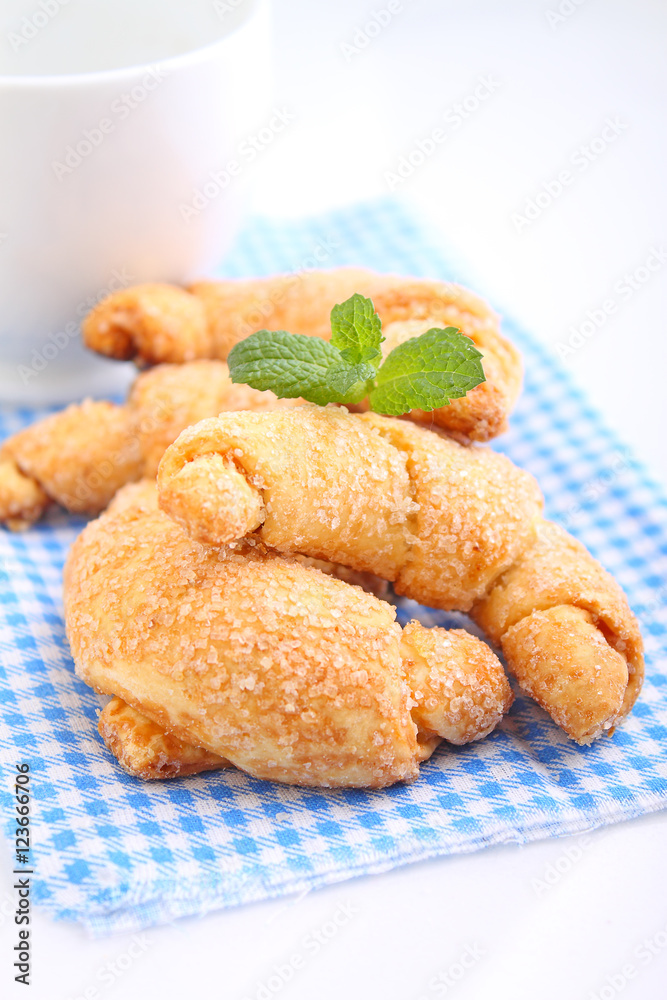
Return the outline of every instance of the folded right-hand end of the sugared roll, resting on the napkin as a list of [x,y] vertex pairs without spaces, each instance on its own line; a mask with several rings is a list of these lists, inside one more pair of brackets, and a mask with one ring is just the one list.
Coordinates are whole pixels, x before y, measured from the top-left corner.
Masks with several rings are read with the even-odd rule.
[[519,684],[578,743],[611,729],[644,679],[637,620],[614,578],[563,528],[534,545],[472,611]]

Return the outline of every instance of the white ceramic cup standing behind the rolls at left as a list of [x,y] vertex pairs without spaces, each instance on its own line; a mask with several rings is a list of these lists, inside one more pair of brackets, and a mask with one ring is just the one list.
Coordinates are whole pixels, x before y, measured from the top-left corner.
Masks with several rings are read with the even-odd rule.
[[239,149],[281,127],[269,57],[266,0],[2,0],[0,401],[127,383],[81,320],[108,291],[219,263]]

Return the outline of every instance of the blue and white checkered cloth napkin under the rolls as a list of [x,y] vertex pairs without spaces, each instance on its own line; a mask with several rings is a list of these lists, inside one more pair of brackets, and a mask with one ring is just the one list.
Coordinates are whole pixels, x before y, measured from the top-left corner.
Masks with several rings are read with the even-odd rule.
[[[384,201],[296,224],[256,220],[227,273],[318,263],[461,277]],[[29,761],[37,898],[53,914],[98,934],[134,929],[667,805],[667,506],[559,364],[511,322],[505,330],[526,384],[496,447],[537,476],[548,516],[615,574],[641,618],[648,676],[626,724],[582,749],[518,698],[488,739],[437,751],[409,786],[316,791],[240,771],[141,783],[102,745],[98,700],[74,676],[60,577],[82,522],[54,513],[26,534],[0,531],[0,801],[11,816],[14,765]],[[35,416],[5,411],[0,438]]]

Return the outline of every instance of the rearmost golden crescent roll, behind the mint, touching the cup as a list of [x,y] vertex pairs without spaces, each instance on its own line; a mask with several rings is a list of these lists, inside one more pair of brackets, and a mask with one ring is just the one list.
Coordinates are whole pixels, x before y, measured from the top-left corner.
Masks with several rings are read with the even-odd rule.
[[358,268],[245,280],[202,281],[189,289],[137,285],[115,292],[86,317],[88,347],[142,364],[193,358],[225,360],[256,330],[288,330],[328,339],[333,306],[355,292],[371,298],[387,350],[431,327],[455,326],[483,355],[486,382],[467,396],[414,419],[462,439],[486,441],[505,430],[521,386],[517,350],[478,296],[449,282],[375,274]]

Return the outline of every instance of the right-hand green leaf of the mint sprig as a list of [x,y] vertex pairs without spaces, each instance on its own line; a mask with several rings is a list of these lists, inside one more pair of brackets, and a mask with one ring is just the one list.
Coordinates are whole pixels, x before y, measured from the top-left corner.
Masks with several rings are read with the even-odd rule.
[[371,409],[389,416],[436,410],[484,382],[482,355],[453,327],[427,330],[399,344],[377,373]]

